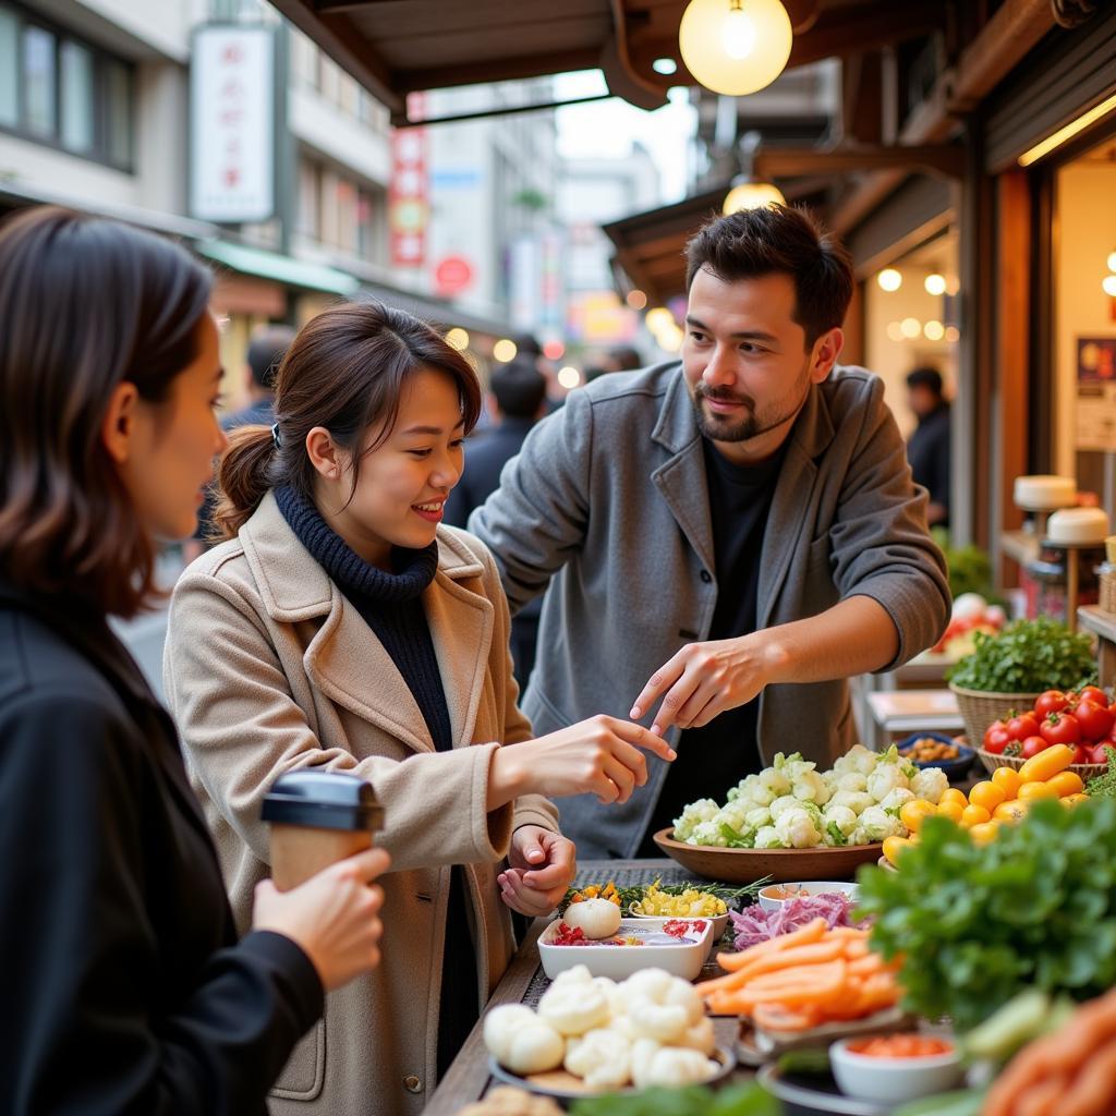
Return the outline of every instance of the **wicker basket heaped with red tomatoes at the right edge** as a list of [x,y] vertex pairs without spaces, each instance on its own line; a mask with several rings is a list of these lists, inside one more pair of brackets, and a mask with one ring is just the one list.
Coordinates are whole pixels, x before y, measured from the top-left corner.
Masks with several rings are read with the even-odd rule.
[[1074,749],[1070,770],[1083,780],[1101,775],[1108,766],[1105,747],[1116,748],[1116,705],[1099,686],[1047,690],[1032,709],[993,721],[977,754],[988,771],[1018,770],[1052,744]]

